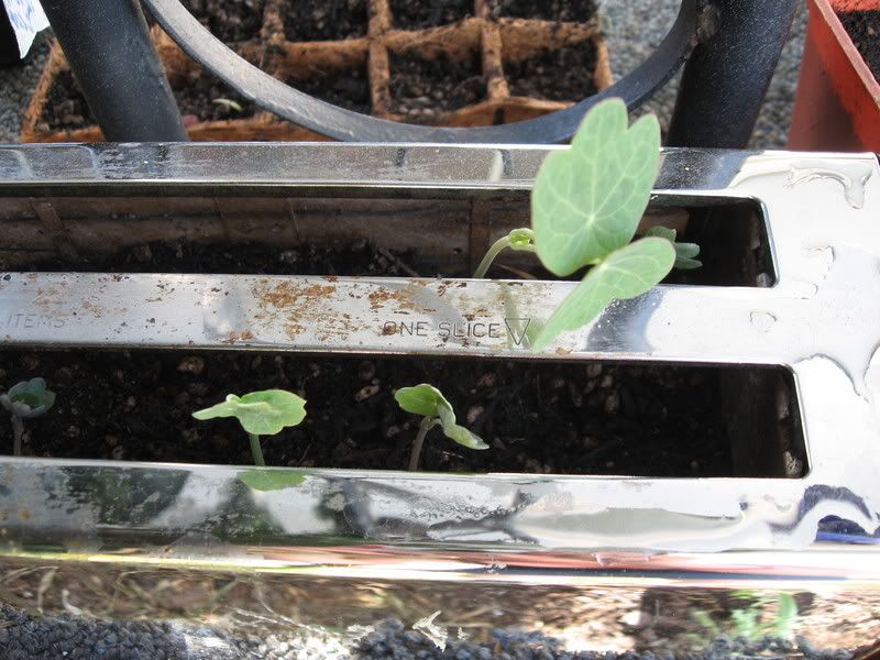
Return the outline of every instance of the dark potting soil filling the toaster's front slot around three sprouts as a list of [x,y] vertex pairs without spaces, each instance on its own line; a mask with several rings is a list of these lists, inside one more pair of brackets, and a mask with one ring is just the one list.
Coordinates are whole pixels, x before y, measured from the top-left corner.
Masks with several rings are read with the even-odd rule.
[[[435,430],[422,470],[730,474],[710,369],[237,351],[0,354],[3,389],[35,376],[56,399],[26,421],[26,455],[249,464],[237,421],[191,414],[230,393],[283,388],[306,398],[308,416],[263,438],[268,464],[403,470],[419,420],[398,408],[394,391],[427,382],[491,449],[468,450]],[[4,418],[0,448],[12,449]]]

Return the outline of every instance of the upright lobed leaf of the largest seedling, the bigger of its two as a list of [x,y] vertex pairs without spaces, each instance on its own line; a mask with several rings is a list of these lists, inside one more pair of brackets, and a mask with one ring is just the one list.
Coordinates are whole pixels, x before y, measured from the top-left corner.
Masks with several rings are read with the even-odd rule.
[[646,116],[628,127],[620,99],[587,112],[571,148],[538,172],[531,222],[541,263],[558,276],[597,263],[632,239],[660,160],[660,125]]

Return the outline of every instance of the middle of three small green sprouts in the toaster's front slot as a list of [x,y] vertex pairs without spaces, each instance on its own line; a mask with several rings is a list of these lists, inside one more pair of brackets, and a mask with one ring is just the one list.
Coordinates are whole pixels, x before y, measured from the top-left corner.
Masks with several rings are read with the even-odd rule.
[[193,414],[196,419],[234,417],[251,439],[254,464],[265,465],[260,436],[274,436],[286,427],[297,426],[306,418],[306,402],[285,389],[264,389],[244,396],[230,394],[222,404],[217,404]]

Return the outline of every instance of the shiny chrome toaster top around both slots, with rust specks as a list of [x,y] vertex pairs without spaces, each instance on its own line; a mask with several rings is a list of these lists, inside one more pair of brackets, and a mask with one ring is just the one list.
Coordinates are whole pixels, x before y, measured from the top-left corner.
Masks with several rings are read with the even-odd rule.
[[[185,188],[219,196],[237,187],[267,195],[504,193],[528,188],[546,153],[339,144],[4,147],[0,195]],[[681,587],[738,581],[820,590],[825,581],[875,593],[876,537],[851,544],[821,531],[828,517],[867,535],[880,529],[877,160],[674,150],[664,154],[657,196],[669,204],[756,200],[777,284],[657,287],[612,305],[538,358],[790,369],[810,464],[803,479],[301,470],[301,484],[258,492],[240,479],[248,468],[3,458],[3,553],[316,579],[454,583],[479,575],[493,584],[645,586],[674,575],[671,584]],[[195,345],[528,360],[530,351],[517,345],[521,326],[512,323],[546,318],[571,286],[9,273],[0,275],[0,339],[6,348]],[[443,341],[441,323],[471,334]],[[487,337],[474,334],[475,323],[484,323]],[[256,520],[272,532],[256,531]],[[779,586],[768,585],[768,574]]]

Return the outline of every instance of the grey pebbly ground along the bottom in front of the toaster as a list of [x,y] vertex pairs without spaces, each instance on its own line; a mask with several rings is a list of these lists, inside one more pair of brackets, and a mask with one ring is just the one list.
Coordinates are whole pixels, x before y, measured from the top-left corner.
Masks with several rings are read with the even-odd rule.
[[[381,624],[359,639],[312,631],[301,636],[273,634],[233,637],[207,627],[177,622],[101,622],[62,616],[33,617],[0,606],[0,660],[673,660],[671,653],[600,653],[566,651],[541,632],[494,630],[484,644],[444,638],[430,622],[425,632],[399,620]],[[418,625],[418,624],[417,624]],[[427,632],[427,635],[426,635]],[[850,660],[849,651],[828,651],[806,639],[794,642],[719,637],[705,649],[674,660],[770,660],[798,656],[803,660]]]

